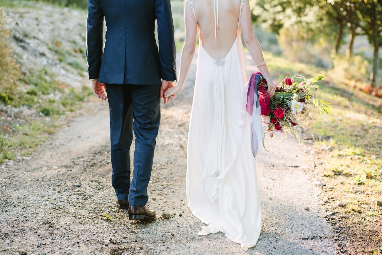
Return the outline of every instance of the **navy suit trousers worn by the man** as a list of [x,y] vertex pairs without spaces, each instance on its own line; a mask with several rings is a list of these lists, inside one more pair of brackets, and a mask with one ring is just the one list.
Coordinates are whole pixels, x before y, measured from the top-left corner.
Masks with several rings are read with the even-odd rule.
[[[119,200],[144,206],[149,198],[147,186],[160,123],[160,84],[106,84],[106,92],[110,108],[112,185]],[[133,131],[134,169],[130,181]]]

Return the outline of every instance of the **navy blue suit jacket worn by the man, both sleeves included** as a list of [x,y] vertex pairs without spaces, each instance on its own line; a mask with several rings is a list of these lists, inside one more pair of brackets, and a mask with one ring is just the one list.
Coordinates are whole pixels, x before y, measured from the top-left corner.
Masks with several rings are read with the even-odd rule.
[[[107,29],[102,53],[104,17]],[[86,39],[91,79],[145,85],[176,80],[170,0],[88,0]]]

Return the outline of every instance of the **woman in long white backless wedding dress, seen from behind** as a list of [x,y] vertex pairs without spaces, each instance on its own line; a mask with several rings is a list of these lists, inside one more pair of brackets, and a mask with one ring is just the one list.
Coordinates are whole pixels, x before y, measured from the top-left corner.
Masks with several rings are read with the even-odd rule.
[[220,231],[248,250],[260,236],[261,209],[251,116],[245,111],[248,87],[241,31],[271,97],[275,86],[253,32],[248,0],[186,0],[185,27],[179,81],[165,97],[171,100],[183,89],[198,31],[187,146],[188,205],[206,224],[198,234]]

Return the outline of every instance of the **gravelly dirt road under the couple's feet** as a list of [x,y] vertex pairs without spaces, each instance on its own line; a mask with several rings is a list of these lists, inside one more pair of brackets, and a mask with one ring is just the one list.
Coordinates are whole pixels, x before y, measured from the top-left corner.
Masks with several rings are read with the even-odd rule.
[[[94,98],[31,157],[0,166],[0,253],[337,254],[335,233],[316,197],[320,189],[306,174],[309,154],[279,135],[266,138],[270,158],[258,156],[263,219],[256,247],[244,252],[224,234],[196,235],[202,223],[188,210],[185,194],[195,71],[196,58],[183,93],[162,105],[147,205],[158,219],[132,222],[117,209],[108,106]],[[248,75],[253,71],[248,65]]]

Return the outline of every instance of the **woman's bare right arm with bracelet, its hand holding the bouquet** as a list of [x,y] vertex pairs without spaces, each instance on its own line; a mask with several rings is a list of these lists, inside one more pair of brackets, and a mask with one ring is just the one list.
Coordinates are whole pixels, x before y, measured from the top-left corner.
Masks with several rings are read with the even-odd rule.
[[[241,31],[243,32],[244,42],[247,45],[249,54],[256,65],[262,64],[264,61],[264,56],[262,54],[261,46],[259,41],[257,40],[252,27],[251,20],[251,8],[249,7],[249,1],[245,0],[245,5],[243,6],[243,10],[241,11]],[[275,94],[275,85],[273,84],[272,78],[269,75],[269,71],[267,65],[264,63],[258,67],[261,74],[267,80],[268,84],[268,92],[270,97]]]

